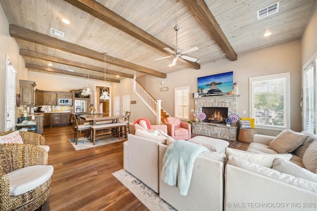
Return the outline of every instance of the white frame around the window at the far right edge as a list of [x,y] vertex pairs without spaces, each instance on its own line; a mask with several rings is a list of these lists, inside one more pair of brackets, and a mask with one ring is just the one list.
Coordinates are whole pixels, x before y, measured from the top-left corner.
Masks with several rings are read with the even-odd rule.
[[[316,127],[317,127],[317,85],[316,85],[316,82],[317,82],[317,56],[314,58],[314,59],[310,59],[309,60],[310,62],[307,64],[307,65],[304,65],[303,67],[303,93],[302,93],[302,101],[303,101],[303,129],[304,130],[308,130],[310,132],[313,132],[313,133],[316,133]],[[310,91],[313,91],[313,127],[306,127],[306,115],[307,115],[307,92],[308,90],[306,89],[306,72],[309,71],[309,69],[313,70],[313,84],[314,84],[314,87],[312,87],[312,90]],[[313,128],[313,130],[312,130]]]

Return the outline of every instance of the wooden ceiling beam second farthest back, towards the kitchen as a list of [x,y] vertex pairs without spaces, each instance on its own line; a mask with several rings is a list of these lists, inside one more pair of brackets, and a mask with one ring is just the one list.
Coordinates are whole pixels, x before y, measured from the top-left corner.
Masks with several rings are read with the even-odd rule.
[[[69,65],[69,66],[73,66],[73,67],[79,67],[79,68],[83,68],[83,69],[88,69],[88,70],[93,70],[93,71],[105,73],[104,68],[100,68],[100,67],[96,67],[96,66],[88,65],[88,64],[83,64],[83,63],[79,63],[79,62],[75,62],[75,61],[71,61],[71,60],[67,60],[67,59],[63,59],[63,58],[59,58],[59,57],[55,57],[55,56],[51,56],[51,55],[44,54],[44,53],[38,53],[35,51],[31,51],[31,50],[20,49],[20,55],[31,57],[31,58],[36,58],[36,59],[43,59],[43,60],[50,61],[50,62],[56,62],[59,64],[65,64],[65,65]],[[106,69],[106,74],[121,76],[121,77],[125,77],[125,78],[130,78],[130,79],[134,78],[134,76],[131,74],[120,73],[120,72],[108,70],[108,69]]]

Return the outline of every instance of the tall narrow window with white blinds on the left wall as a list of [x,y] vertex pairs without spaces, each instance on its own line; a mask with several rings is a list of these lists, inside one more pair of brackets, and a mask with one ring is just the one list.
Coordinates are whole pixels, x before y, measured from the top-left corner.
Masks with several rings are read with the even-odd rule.
[[6,130],[12,130],[15,126],[15,75],[16,72],[7,59],[6,62]]

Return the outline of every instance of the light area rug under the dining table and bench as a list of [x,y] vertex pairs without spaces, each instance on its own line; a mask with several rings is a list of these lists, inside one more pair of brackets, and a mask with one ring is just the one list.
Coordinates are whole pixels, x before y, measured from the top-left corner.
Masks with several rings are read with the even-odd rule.
[[79,138],[77,145],[75,142],[73,142],[73,138],[70,138],[69,141],[75,148],[75,150],[82,150],[82,149],[88,149],[91,147],[97,147],[105,144],[111,144],[119,141],[125,141],[128,140],[126,138],[122,137],[103,137],[103,138],[96,138],[96,144],[94,145],[92,142],[90,142],[89,138]]

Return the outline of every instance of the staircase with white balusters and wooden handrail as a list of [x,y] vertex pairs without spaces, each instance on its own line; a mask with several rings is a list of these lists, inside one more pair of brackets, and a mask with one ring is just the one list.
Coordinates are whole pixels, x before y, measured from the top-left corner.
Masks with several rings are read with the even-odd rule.
[[142,99],[149,109],[157,117],[157,125],[162,124],[164,118],[169,117],[166,111],[161,108],[161,100],[156,100],[141,84],[135,79],[133,83],[134,92]]

